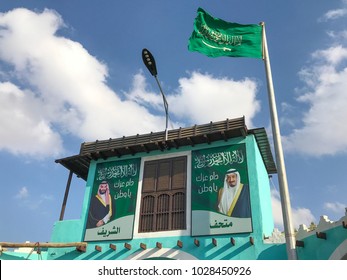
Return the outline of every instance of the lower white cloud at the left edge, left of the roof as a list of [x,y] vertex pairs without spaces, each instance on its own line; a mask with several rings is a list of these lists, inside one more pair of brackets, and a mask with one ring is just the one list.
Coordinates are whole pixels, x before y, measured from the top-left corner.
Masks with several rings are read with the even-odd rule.
[[31,92],[0,82],[0,103],[0,149],[31,156],[62,151],[60,136],[41,114],[44,104]]

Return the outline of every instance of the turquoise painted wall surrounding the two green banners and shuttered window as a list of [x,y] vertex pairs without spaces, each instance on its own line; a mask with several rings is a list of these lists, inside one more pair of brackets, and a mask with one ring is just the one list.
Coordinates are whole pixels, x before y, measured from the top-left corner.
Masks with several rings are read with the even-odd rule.
[[[222,129],[219,128],[222,126]],[[231,129],[228,129],[228,126]],[[194,132],[195,130],[195,132]],[[199,130],[207,130],[207,133],[199,133]],[[178,131],[175,131],[179,135]],[[203,131],[205,132],[205,131]],[[271,194],[269,186],[269,173],[274,172],[274,163],[272,157],[267,159],[266,166],[264,162],[265,153],[271,155],[268,150],[266,133],[264,129],[257,131],[248,131],[243,119],[227,120],[220,123],[211,123],[202,126],[188,128],[185,133],[187,136],[171,138],[173,131],[169,131],[168,140],[164,143],[174,143],[175,146],[165,147],[158,142],[151,151],[134,152],[138,149],[134,144],[133,152],[121,156],[110,156],[91,159],[88,176],[86,181],[86,191],[82,215],[80,220],[75,221],[59,221],[54,225],[52,242],[75,242],[84,241],[86,234],[86,223],[90,200],[93,193],[95,177],[97,176],[97,168],[100,164],[109,164],[117,166],[117,162],[127,162],[129,160],[137,160],[140,162],[139,180],[137,186],[137,200],[134,211],[134,219],[125,225],[133,228],[130,238],[120,240],[91,240],[88,241],[86,252],[79,252],[75,248],[54,248],[48,250],[48,259],[148,259],[148,258],[167,258],[167,259],[286,259],[285,244],[269,244],[264,242],[264,238],[271,236],[274,230],[271,208]],[[182,135],[183,131],[181,131]],[[229,134],[228,134],[229,133]],[[223,136],[224,135],[224,136]],[[148,135],[147,135],[148,136]],[[153,135],[152,135],[153,136]],[[159,139],[163,135],[159,136]],[[232,136],[232,137],[230,137]],[[256,137],[264,137],[265,143],[262,143],[263,155],[259,149],[259,143]],[[138,136],[141,138],[141,136]],[[143,137],[145,138],[145,137]],[[181,140],[181,144],[177,139]],[[184,140],[183,140],[184,139]],[[125,141],[129,140],[125,138]],[[138,142],[141,140],[138,140]],[[183,141],[184,142],[183,144]],[[135,141],[136,142],[136,141]],[[150,140],[148,142],[155,142]],[[96,143],[93,143],[96,144]],[[92,143],[87,145],[91,146]],[[98,142],[99,145],[105,143]],[[111,144],[112,145],[112,144]],[[174,144],[172,144],[174,145]],[[252,212],[252,230],[250,232],[232,233],[232,234],[192,234],[194,227],[192,215],[192,168],[194,165],[193,154],[195,151],[212,151],[217,154],[220,151],[230,150],[235,153],[233,147],[244,147],[247,159],[248,183],[250,187],[250,203]],[[130,147],[130,145],[129,145]],[[95,148],[95,147],[94,147]],[[124,147],[122,147],[124,148]],[[149,148],[148,148],[149,149]],[[129,148],[131,150],[131,148]],[[82,153],[85,151],[81,150]],[[105,152],[106,153],[106,152]],[[121,153],[121,151],[119,151]],[[186,207],[184,229],[179,230],[163,230],[139,232],[139,216],[141,204],[141,188],[143,185],[143,173],[145,162],[156,160],[172,159],[177,157],[186,157]],[[71,160],[70,160],[71,162]],[[66,160],[60,161],[66,163]],[[231,163],[232,165],[232,163]],[[196,225],[196,232],[199,232],[199,225]],[[66,233],[69,232],[67,235]],[[96,236],[97,238],[97,236]],[[97,248],[98,250],[96,250]],[[116,249],[112,249],[116,248]],[[276,253],[274,254],[274,252]]]

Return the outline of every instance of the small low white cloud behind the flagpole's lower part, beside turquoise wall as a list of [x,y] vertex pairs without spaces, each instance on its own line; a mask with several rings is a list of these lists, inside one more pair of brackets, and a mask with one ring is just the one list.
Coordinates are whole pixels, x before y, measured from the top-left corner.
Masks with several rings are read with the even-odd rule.
[[[275,227],[283,229],[283,216],[280,194],[277,190],[271,190],[272,199],[272,211]],[[310,225],[315,221],[315,217],[311,211],[307,208],[293,208],[292,207],[292,224],[295,229],[298,229],[300,225]]]

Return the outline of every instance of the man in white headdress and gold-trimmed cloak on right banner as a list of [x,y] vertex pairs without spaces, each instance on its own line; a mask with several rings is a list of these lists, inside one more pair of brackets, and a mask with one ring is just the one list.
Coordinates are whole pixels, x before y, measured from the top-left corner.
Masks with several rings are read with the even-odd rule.
[[240,182],[240,173],[229,169],[225,174],[224,186],[218,193],[218,211],[230,217],[251,217],[249,187]]

